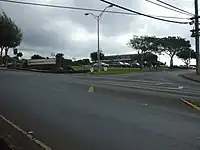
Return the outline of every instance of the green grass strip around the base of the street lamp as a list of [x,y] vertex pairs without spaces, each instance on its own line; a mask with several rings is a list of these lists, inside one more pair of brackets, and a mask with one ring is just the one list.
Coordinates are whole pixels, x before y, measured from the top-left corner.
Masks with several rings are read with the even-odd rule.
[[107,71],[101,71],[101,72],[90,72],[89,74],[95,74],[95,75],[114,75],[114,74],[126,74],[126,73],[132,73],[132,72],[146,72],[149,71],[149,69],[144,68],[109,68]]

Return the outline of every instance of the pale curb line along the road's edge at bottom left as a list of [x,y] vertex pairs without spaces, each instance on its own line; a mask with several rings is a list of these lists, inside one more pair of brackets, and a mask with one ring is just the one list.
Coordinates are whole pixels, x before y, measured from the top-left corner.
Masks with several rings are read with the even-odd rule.
[[43,142],[41,142],[40,140],[36,139],[35,137],[33,137],[31,134],[29,134],[30,132],[33,133],[33,131],[29,131],[26,132],[23,129],[21,129],[20,127],[18,127],[17,125],[15,125],[14,123],[12,123],[10,120],[8,120],[7,118],[5,118],[4,116],[0,115],[0,118],[2,120],[4,120],[6,123],[8,123],[9,125],[11,125],[13,128],[15,128],[17,131],[21,132],[22,134],[24,134],[27,138],[29,138],[31,141],[33,141],[34,143],[38,144],[40,147],[42,147],[44,150],[51,150],[50,147],[48,147],[47,145],[45,145]]

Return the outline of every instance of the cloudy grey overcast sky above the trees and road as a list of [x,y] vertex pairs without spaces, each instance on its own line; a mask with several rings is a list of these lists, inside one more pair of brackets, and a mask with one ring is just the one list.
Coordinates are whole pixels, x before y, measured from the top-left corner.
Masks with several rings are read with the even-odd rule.
[[[27,1],[30,0],[19,0]],[[145,0],[110,0],[113,3],[151,15],[188,17]],[[155,0],[152,0],[155,1]],[[194,13],[194,0],[165,0]],[[31,0],[31,2],[104,9],[100,0]],[[87,58],[97,50],[96,21],[84,16],[85,11],[36,7],[0,2],[0,7],[21,27],[23,41],[19,47],[25,58],[38,53],[49,57],[51,52],[62,52],[65,58]],[[109,8],[113,11],[123,11]],[[98,12],[93,12],[98,14]],[[188,21],[188,20],[179,20]],[[104,13],[100,21],[100,48],[105,54],[136,53],[126,43],[133,35],[182,36],[191,40],[190,25],[180,25],[149,19],[143,16]],[[194,43],[194,39],[191,40]],[[10,51],[11,52],[11,51]],[[163,62],[168,57],[160,56]],[[175,59],[175,64],[181,60]]]

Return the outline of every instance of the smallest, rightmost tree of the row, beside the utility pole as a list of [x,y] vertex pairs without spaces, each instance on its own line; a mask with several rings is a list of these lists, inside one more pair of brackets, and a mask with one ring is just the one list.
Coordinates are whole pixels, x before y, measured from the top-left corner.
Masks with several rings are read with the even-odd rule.
[[195,51],[190,48],[186,48],[183,51],[178,52],[176,56],[179,57],[187,67],[190,64],[190,59],[196,59]]

